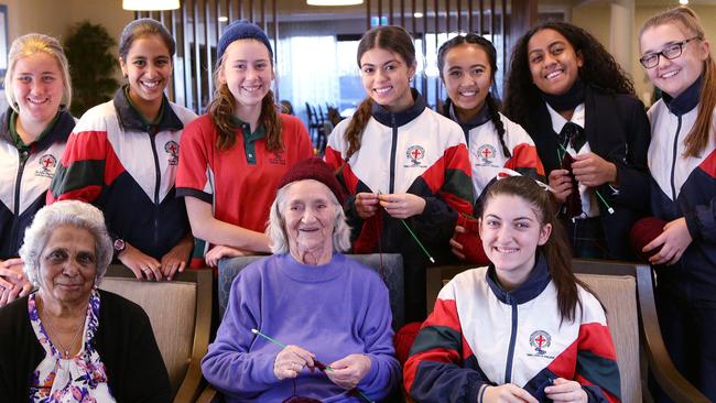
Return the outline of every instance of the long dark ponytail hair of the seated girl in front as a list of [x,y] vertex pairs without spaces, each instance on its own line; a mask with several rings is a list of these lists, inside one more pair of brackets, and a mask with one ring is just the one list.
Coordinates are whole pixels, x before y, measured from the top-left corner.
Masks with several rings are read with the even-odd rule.
[[480,216],[490,199],[498,195],[518,196],[524,199],[536,210],[540,227],[547,224],[552,226],[550,238],[542,247],[538,247],[538,250],[541,250],[544,254],[552,275],[552,282],[557,290],[557,307],[560,308],[561,318],[566,318],[569,322],[574,320],[577,305],[582,308],[577,284],[588,292],[592,291],[572,272],[572,249],[557,219],[556,204],[552,200],[552,193],[527,176],[510,176],[499,179],[485,190]]

